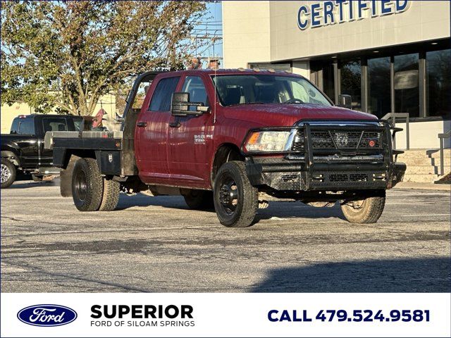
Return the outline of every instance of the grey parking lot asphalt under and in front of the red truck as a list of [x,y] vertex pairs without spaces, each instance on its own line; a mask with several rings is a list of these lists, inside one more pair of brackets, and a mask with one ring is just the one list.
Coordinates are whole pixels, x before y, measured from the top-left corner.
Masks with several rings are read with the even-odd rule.
[[182,197],[81,213],[56,182],[1,190],[1,292],[450,292],[450,192],[393,189],[376,224],[271,201],[223,227]]

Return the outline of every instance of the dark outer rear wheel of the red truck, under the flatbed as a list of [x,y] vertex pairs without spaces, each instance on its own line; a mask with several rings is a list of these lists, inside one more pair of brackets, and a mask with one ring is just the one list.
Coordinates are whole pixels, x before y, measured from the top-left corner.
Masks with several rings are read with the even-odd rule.
[[73,168],[72,197],[80,211],[99,210],[104,192],[104,180],[94,158],[80,158]]

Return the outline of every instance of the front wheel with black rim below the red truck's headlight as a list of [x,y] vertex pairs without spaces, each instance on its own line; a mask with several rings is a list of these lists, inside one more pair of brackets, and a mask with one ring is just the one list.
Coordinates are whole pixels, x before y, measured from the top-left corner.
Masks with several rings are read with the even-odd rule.
[[247,178],[245,163],[223,164],[214,181],[214,208],[219,222],[226,227],[249,227],[258,207],[258,190]]

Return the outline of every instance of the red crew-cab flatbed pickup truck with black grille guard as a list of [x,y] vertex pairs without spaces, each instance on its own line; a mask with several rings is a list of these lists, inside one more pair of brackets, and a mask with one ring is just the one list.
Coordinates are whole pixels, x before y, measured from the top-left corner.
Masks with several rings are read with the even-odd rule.
[[[350,97],[341,96],[343,106]],[[350,222],[375,223],[406,166],[398,128],[335,106],[300,75],[184,70],[140,75],[120,132],[50,132],[61,194],[108,211],[119,193],[183,195],[221,224],[254,222],[261,195],[314,206],[340,201]]]

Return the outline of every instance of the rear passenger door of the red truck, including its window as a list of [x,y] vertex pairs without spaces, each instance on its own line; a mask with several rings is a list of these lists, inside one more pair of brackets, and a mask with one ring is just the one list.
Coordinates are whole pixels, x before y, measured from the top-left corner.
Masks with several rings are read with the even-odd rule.
[[167,138],[171,98],[180,77],[163,77],[156,86],[148,108],[142,107],[135,132],[136,164],[145,183],[166,183],[169,179]]

